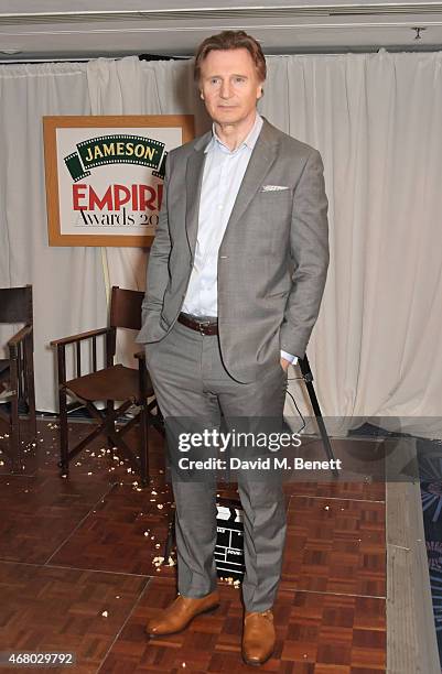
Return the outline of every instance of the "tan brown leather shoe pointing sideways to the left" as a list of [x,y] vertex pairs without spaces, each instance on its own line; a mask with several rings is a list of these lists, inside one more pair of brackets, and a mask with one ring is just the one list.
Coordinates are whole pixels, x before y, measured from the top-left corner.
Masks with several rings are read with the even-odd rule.
[[213,611],[218,606],[218,590],[201,598],[179,595],[158,618],[153,618],[148,622],[145,631],[151,638],[182,632],[195,616]]

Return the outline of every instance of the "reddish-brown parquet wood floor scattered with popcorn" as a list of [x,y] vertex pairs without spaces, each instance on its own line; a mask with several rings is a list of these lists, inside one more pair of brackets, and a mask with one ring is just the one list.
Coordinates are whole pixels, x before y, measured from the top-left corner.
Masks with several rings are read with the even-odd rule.
[[[71,424],[73,437],[87,432]],[[0,651],[73,651],[78,674],[252,671],[240,659],[240,590],[227,583],[219,583],[217,611],[185,632],[144,635],[176,591],[176,567],[154,562],[173,513],[155,432],[145,490],[99,442],[60,478],[57,433],[56,422],[39,422],[37,446],[23,444],[22,475],[10,474],[0,437]],[[284,491],[277,648],[261,670],[385,672],[384,485],[295,482]]]

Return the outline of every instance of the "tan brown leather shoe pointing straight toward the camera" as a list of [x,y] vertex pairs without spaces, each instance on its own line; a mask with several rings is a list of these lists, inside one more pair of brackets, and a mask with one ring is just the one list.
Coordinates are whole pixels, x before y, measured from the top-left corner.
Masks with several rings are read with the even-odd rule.
[[246,664],[261,665],[274,650],[274,627],[271,609],[248,612],[244,617],[242,659]]

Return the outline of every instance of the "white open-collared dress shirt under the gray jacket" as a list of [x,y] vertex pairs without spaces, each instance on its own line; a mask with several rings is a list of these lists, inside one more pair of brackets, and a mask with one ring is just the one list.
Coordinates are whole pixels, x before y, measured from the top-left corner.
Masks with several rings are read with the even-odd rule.
[[[183,312],[193,316],[218,315],[217,265],[218,251],[251,152],[262,128],[258,113],[247,138],[236,150],[223,143],[213,126],[212,139],[205,148],[201,188],[198,231],[194,264],[184,298]],[[287,351],[281,356],[291,362],[298,358]]]

